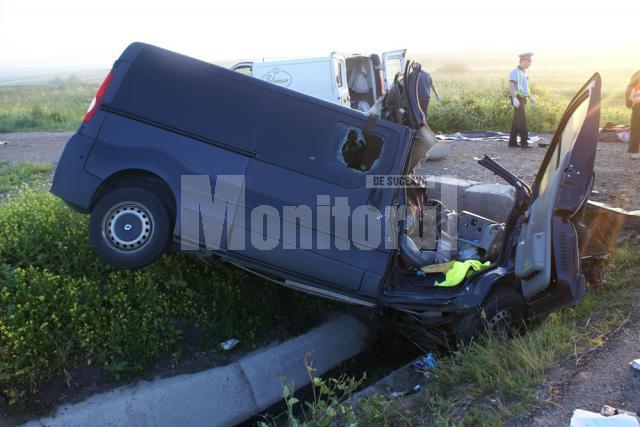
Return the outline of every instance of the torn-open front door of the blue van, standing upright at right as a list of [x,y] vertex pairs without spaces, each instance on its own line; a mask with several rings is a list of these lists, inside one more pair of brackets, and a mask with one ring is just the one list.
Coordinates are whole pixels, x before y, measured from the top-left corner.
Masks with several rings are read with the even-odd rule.
[[575,303],[584,294],[573,221],[593,186],[600,86],[595,74],[573,98],[536,176],[515,259],[515,273],[527,299],[547,288],[562,304]]

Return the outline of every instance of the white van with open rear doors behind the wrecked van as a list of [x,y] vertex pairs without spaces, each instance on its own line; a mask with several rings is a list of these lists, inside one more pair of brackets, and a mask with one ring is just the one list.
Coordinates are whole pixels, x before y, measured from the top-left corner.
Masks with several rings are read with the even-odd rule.
[[406,49],[382,54],[241,62],[232,70],[327,101],[368,111],[404,71]]

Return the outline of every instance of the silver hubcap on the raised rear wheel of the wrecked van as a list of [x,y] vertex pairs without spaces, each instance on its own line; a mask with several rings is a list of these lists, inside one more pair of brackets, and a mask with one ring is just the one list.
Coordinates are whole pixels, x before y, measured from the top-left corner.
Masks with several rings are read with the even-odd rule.
[[136,251],[151,238],[153,217],[138,203],[121,203],[105,215],[102,231],[106,241],[114,248]]

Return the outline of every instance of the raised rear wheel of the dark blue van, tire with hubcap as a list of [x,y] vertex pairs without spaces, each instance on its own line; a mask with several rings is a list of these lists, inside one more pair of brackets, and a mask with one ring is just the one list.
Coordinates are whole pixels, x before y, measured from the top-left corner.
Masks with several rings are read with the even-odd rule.
[[96,254],[119,268],[139,268],[166,250],[171,236],[167,208],[152,192],[118,188],[94,207],[89,237]]

